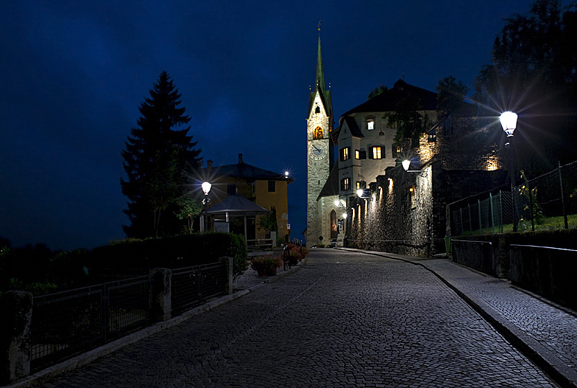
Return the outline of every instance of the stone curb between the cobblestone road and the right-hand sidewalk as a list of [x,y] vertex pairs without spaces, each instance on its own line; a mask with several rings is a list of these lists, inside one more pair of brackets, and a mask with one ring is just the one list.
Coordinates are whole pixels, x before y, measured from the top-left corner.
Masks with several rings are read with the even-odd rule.
[[443,278],[440,274],[431,270],[431,268],[426,265],[406,260],[404,258],[399,258],[395,256],[390,256],[387,254],[377,254],[376,252],[363,252],[356,249],[342,249],[349,250],[352,252],[360,252],[363,254],[371,254],[374,256],[381,256],[386,258],[391,258],[393,260],[404,261],[405,263],[420,265],[425,270],[434,274],[440,281],[445,283],[451,290],[454,290],[456,294],[463,299],[469,306],[473,308],[476,312],[481,315],[489,324],[497,330],[503,337],[506,338],[515,348],[517,348],[521,353],[523,353],[531,361],[535,362],[538,367],[540,367],[545,373],[547,373],[555,382],[557,382],[561,387],[564,388],[577,388],[577,372],[574,369],[567,367],[565,362],[562,362],[556,355],[551,353],[549,349],[546,349],[540,342],[535,340],[530,335],[527,335],[519,329],[515,324],[508,321],[501,313],[494,310],[485,301],[475,297],[466,291],[461,290],[460,285],[456,282],[449,281]]

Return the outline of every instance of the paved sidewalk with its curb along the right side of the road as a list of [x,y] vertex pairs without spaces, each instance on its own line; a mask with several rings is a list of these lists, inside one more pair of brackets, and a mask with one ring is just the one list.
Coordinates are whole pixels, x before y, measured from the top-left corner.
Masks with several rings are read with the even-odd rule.
[[560,385],[577,387],[576,312],[446,258],[343,250],[406,261],[433,272]]

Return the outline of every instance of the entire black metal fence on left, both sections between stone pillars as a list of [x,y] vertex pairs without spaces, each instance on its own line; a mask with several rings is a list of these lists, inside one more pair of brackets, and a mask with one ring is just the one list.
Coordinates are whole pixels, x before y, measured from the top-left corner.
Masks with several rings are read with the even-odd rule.
[[[172,316],[225,294],[227,284],[224,263],[172,270]],[[31,370],[150,325],[153,286],[153,277],[146,275],[34,297]]]

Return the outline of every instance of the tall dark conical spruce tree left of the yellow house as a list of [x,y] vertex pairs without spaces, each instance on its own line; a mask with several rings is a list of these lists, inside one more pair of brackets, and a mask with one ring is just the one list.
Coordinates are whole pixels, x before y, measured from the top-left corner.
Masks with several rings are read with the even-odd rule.
[[183,221],[178,213],[182,197],[187,195],[185,172],[202,164],[200,149],[188,132],[186,110],[180,105],[180,94],[166,71],[144,98],[139,111],[138,127],[130,130],[122,152],[128,180],[121,179],[122,193],[128,197],[124,211],[130,225],[124,225],[126,236],[147,238],[179,233]]

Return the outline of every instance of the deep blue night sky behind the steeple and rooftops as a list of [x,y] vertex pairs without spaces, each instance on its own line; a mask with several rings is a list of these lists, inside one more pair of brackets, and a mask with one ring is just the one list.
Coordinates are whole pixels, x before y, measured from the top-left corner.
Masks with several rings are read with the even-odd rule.
[[121,151],[166,70],[214,166],[284,173],[307,221],[306,118],[321,24],[335,121],[379,85],[472,87],[512,1],[3,1],[0,236],[12,247],[124,238]]

